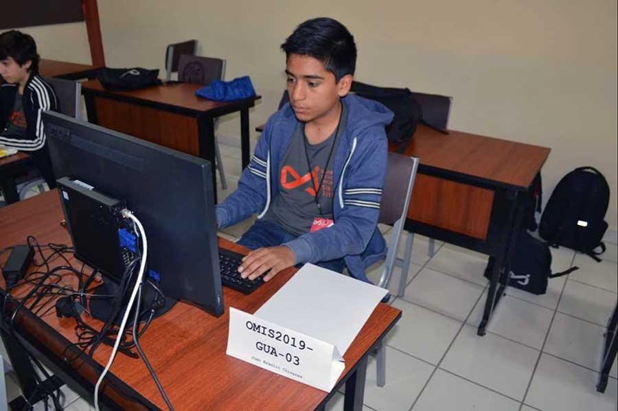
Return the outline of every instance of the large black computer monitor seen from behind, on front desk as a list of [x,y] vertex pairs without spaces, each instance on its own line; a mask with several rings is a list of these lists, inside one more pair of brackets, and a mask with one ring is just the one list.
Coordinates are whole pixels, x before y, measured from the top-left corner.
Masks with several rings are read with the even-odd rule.
[[163,294],[222,314],[209,161],[58,113],[43,113],[43,124],[56,178],[126,202],[144,225]]

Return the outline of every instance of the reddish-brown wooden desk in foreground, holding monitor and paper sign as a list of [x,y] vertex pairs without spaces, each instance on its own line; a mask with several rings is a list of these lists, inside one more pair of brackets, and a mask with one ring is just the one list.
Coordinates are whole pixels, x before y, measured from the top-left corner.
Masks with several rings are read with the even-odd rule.
[[[4,207],[0,209],[0,249],[23,244],[27,234],[35,235],[40,244],[69,244],[67,231],[59,224],[61,219],[62,210],[56,190]],[[222,239],[220,245],[243,250]],[[5,258],[3,255],[1,261]],[[343,384],[346,384],[345,409],[361,410],[367,355],[401,316],[400,310],[389,305],[380,303],[352,342],[344,355],[345,371],[330,393],[225,354],[229,307],[255,312],[294,272],[294,269],[288,269],[279,273],[249,296],[224,288],[225,314],[220,318],[192,305],[177,303],[170,312],[152,321],[140,343],[176,410],[323,409]],[[3,279],[0,279],[0,285],[4,285]],[[3,299],[2,292],[0,298]],[[3,301],[0,301],[0,307],[2,304]],[[14,301],[8,300],[5,318],[10,318],[15,305]],[[90,319],[88,322],[100,326],[96,320]],[[14,335],[27,351],[36,355],[62,381],[91,401],[94,383],[102,371],[100,364],[105,364],[111,349],[100,347],[95,352],[94,360],[83,357],[72,364],[65,362],[62,351],[70,342],[76,341],[73,326],[73,320],[60,320],[53,311],[38,318],[22,309],[16,316]],[[3,337],[6,340],[11,336]],[[5,344],[14,347],[11,341]],[[14,368],[19,371],[19,362],[15,364],[17,366]],[[111,373],[106,376],[101,402],[113,410],[165,409],[165,403],[144,363],[122,354],[117,355]]]

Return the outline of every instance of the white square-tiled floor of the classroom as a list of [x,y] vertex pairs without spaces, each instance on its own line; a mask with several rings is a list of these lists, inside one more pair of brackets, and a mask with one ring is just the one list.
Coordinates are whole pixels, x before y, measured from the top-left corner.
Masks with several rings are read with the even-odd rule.
[[[220,139],[229,195],[240,177],[240,151]],[[220,234],[236,239],[244,222]],[[381,227],[385,237],[389,228]],[[580,411],[616,410],[616,364],[606,392],[595,390],[604,326],[617,302],[617,246],[608,244],[596,263],[564,248],[552,249],[554,272],[571,265],[580,270],[549,281],[547,294],[535,296],[510,288],[488,333],[477,336],[485,303],[486,257],[416,236],[405,296],[391,304],[402,310],[387,336],[387,384],[376,386],[376,364],[369,360],[364,411]],[[382,266],[369,270],[377,280]],[[398,284],[398,272],[391,279]],[[9,397],[18,395],[12,376]],[[69,411],[91,410],[67,394]],[[1,408],[1,406],[0,406]],[[343,410],[337,393],[327,407]]]

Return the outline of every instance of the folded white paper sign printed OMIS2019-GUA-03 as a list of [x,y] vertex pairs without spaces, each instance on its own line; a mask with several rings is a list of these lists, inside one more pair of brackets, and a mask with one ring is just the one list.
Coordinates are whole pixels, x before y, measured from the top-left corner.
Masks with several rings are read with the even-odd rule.
[[327,392],[345,368],[334,345],[233,307],[226,353]]

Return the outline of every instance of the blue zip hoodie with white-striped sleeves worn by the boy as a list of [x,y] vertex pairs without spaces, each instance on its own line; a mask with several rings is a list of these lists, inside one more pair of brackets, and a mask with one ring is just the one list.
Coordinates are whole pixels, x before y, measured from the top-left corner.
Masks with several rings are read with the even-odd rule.
[[[347,95],[341,101],[348,117],[334,155],[334,225],[301,235],[286,246],[292,248],[296,263],[344,257],[352,277],[370,282],[365,268],[384,257],[387,249],[377,222],[387,171],[385,126],[393,113],[378,102],[356,95]],[[220,227],[255,213],[259,213],[258,218],[266,214],[278,195],[279,163],[297,124],[289,103],[268,119],[238,189],[216,208]]]

